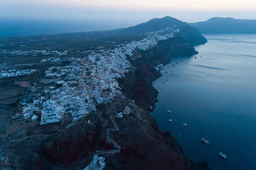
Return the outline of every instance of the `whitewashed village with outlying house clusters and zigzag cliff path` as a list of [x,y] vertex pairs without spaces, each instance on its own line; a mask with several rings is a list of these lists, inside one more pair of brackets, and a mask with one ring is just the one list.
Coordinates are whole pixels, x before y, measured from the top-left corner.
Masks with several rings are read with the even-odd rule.
[[[122,95],[117,79],[125,77],[125,74],[129,72],[131,63],[128,59],[134,55],[135,50],[148,50],[156,46],[160,40],[172,38],[178,32],[179,29],[176,27],[147,32],[146,38],[142,40],[117,44],[114,49],[105,49],[103,46],[93,47],[93,49],[98,50],[92,50],[87,55],[84,55],[84,57],[79,58],[52,57],[41,59],[41,63],[58,62],[58,65],[55,64],[55,66],[47,67],[48,69],[45,70],[44,79],[47,83],[43,85],[40,83],[40,87],[28,87],[28,92],[24,93],[25,97],[20,100],[23,110],[15,115],[14,119],[22,116],[26,119],[27,123],[29,120],[31,124],[38,122],[38,124],[44,126],[45,124],[61,122],[64,120],[65,115],[71,114],[72,122],[71,124],[68,123],[68,126],[65,125],[67,129],[74,122],[97,111],[98,105],[111,104],[116,95]],[[108,43],[113,42],[109,41]],[[68,51],[39,50],[29,52],[15,51],[13,55],[49,55],[50,53],[55,53],[55,56],[68,55]],[[60,66],[59,63],[62,61],[65,61],[63,62],[65,64]],[[159,70],[161,67],[162,65],[159,65],[155,68]],[[29,75],[36,71],[39,70],[6,70],[1,72],[1,76],[9,78]],[[131,106],[126,105],[125,109],[120,111],[119,113],[115,112],[115,115],[111,116],[125,118],[130,114]],[[86,120],[86,122],[90,124],[90,120]],[[33,126],[35,126],[34,123]],[[120,151],[120,146],[109,138],[109,130],[107,130],[108,142],[113,142],[118,150],[102,150],[99,151],[100,154]],[[118,127],[116,130],[118,130]],[[105,168],[104,160],[105,158],[95,155],[93,162],[85,170],[103,170]]]

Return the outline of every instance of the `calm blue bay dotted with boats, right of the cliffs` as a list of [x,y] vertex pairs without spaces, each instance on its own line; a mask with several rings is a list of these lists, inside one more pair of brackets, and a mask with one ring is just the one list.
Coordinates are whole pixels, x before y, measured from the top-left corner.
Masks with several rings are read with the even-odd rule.
[[[196,59],[172,58],[153,82],[159,101],[151,114],[194,161],[212,170],[256,170],[256,35],[205,37]],[[209,145],[200,141],[207,134]]]

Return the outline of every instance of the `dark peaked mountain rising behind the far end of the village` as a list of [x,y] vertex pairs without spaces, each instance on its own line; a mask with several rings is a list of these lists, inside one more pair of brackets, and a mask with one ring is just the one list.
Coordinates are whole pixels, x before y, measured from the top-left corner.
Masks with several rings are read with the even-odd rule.
[[154,18],[146,23],[141,23],[136,26],[131,26],[126,29],[120,30],[122,33],[127,34],[141,34],[145,32],[154,32],[168,27],[176,26],[180,30],[180,36],[185,38],[193,46],[204,44],[207,42],[195,27],[190,26],[186,22],[182,22],[173,17]]

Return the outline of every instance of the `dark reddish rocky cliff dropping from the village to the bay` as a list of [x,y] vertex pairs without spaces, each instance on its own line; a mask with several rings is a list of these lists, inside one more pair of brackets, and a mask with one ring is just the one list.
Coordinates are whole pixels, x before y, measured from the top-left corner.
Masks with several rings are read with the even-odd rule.
[[[193,34],[194,31],[194,34]],[[187,36],[189,35],[189,36]],[[122,93],[133,98],[137,105],[150,111],[150,107],[156,102],[157,90],[151,85],[151,81],[159,78],[160,72],[154,69],[158,64],[167,64],[175,55],[194,55],[193,45],[206,43],[195,29],[186,27],[180,35],[160,41],[156,47],[147,51],[137,50],[130,62],[131,71],[125,78],[119,79]],[[209,170],[207,162],[194,162],[183,152],[182,147],[169,132],[158,129],[157,123],[148,112],[141,112],[147,125],[129,135],[128,142],[124,141],[121,154],[116,156],[116,161],[110,162],[109,169],[163,169],[163,170]],[[137,120],[139,121],[139,120]],[[140,121],[139,121],[140,122]],[[143,124],[143,123],[142,123]],[[147,134],[147,135],[145,135]],[[120,141],[120,140],[119,140]],[[122,143],[122,140],[120,141]],[[119,161],[117,161],[119,160]]]

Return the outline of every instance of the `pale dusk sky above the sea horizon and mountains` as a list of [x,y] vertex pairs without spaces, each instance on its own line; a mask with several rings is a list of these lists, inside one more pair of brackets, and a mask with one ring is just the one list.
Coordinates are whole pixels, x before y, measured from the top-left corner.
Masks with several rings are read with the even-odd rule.
[[0,0],[0,18],[120,20],[155,17],[198,22],[210,17],[256,19],[256,0]]

